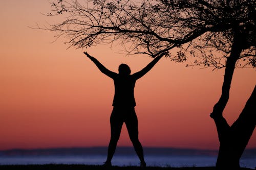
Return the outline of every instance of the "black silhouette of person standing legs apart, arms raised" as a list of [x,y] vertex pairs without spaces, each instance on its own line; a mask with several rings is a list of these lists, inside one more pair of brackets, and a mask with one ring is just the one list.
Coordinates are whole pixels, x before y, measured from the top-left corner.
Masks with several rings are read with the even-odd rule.
[[106,76],[114,80],[115,94],[113,100],[113,111],[110,117],[111,125],[111,139],[108,148],[108,157],[104,163],[105,166],[112,166],[111,160],[114,156],[117,141],[120,137],[123,123],[125,123],[129,137],[133,143],[135,152],[140,159],[140,166],[145,167],[143,148],[138,137],[138,119],[135,113],[134,107],[136,106],[134,98],[135,82],[148,71],[161,59],[164,54],[156,57],[145,68],[131,75],[131,69],[126,64],[120,64],[118,68],[118,74],[110,71],[104,67],[96,58],[90,56],[87,52],[84,52],[88,58],[90,58],[99,70]]

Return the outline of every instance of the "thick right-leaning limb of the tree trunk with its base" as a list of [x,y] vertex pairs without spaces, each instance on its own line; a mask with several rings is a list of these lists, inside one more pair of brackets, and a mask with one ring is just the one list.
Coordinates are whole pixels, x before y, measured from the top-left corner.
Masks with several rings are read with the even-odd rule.
[[239,118],[231,127],[227,128],[226,135],[220,140],[220,149],[216,167],[220,169],[240,167],[240,158],[256,125],[255,103],[256,86]]

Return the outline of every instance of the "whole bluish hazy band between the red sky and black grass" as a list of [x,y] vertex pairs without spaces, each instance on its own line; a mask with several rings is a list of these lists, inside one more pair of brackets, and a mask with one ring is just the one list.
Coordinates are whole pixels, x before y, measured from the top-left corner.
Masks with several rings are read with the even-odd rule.
[[[55,149],[13,149],[0,151],[0,164],[93,164],[100,165],[106,159],[106,147],[55,148]],[[215,166],[217,150],[144,148],[148,166]],[[139,166],[139,158],[132,147],[117,147],[112,160],[117,166]],[[256,167],[256,149],[247,149],[241,160],[241,167]]]

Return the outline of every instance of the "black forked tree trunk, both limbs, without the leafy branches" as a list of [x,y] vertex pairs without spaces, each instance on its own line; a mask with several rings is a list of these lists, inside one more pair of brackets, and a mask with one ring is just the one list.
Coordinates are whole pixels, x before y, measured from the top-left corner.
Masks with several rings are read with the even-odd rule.
[[231,127],[227,124],[226,119],[222,115],[229,99],[233,71],[243,50],[241,44],[243,40],[244,38],[241,34],[238,33],[234,35],[231,53],[226,62],[221,98],[210,114],[211,118],[215,121],[220,141],[219,155],[216,163],[218,169],[236,169],[240,167],[240,158],[255,128],[256,110],[255,106],[253,106],[255,105],[255,88],[244,110]]

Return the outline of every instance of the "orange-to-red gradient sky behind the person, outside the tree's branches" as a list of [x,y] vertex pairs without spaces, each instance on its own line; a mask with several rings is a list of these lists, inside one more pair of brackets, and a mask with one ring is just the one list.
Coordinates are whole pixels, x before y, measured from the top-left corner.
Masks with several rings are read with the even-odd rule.
[[[83,50],[54,43],[54,33],[30,29],[52,18],[48,1],[0,2],[0,150],[106,146],[114,95]],[[107,68],[128,64],[132,73],[152,58],[120,54],[120,48],[87,49]],[[224,69],[187,68],[162,58],[135,87],[139,138],[147,147],[218,149],[209,117],[219,100]],[[236,69],[224,111],[229,124],[241,113],[256,82],[252,68]],[[124,126],[125,127],[125,126]],[[130,146],[123,128],[118,145]],[[247,148],[256,147],[256,132]]]

